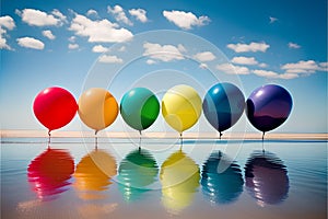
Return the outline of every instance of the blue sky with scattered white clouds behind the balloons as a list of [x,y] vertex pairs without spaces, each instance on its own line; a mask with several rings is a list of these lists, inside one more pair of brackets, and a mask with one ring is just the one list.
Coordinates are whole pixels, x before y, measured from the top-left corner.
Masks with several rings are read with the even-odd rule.
[[[40,90],[59,85],[78,100],[90,74],[106,78],[121,69],[112,84],[96,80],[118,101],[136,84],[161,87],[161,97],[172,85],[165,77],[199,84],[202,95],[215,83],[209,71],[237,81],[245,97],[277,83],[294,100],[277,131],[327,132],[326,9],[324,0],[1,1],[1,128],[42,129],[32,112]],[[127,65],[132,55],[138,59]],[[161,130],[163,120],[156,123],[151,130]],[[63,129],[80,126],[77,116]],[[256,131],[247,122],[236,127]],[[118,118],[107,130],[121,128]]]

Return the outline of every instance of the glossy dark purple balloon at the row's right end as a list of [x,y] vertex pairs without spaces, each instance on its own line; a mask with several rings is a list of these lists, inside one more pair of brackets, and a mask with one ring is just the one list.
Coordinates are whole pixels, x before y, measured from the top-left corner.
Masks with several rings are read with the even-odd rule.
[[263,132],[283,124],[293,106],[291,94],[282,87],[262,85],[246,101],[246,115],[251,125]]

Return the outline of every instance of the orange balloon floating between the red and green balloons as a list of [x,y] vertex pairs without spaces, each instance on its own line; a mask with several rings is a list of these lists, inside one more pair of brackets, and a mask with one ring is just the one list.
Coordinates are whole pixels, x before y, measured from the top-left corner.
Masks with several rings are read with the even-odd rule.
[[118,104],[105,89],[92,88],[80,96],[78,113],[86,126],[98,131],[114,123]]

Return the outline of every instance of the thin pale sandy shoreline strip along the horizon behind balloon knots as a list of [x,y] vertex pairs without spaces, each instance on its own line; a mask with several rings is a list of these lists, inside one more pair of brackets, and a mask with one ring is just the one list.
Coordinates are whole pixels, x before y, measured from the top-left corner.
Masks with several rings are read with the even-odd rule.
[[[46,130],[0,130],[1,138],[47,138]],[[147,138],[179,138],[177,132],[142,132]],[[62,131],[51,132],[52,138],[94,138],[94,131]],[[139,138],[136,132],[99,131],[99,138]],[[222,139],[261,139],[261,132],[224,132]],[[292,134],[267,132],[266,139],[277,140],[328,140],[328,134]],[[219,139],[219,132],[184,132],[184,139]]]

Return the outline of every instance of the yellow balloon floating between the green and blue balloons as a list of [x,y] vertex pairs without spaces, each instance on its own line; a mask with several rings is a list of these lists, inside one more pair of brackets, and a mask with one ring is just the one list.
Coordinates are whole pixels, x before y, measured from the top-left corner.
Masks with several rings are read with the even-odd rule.
[[162,99],[162,115],[172,128],[181,134],[197,123],[201,114],[201,99],[194,88],[176,85]]

